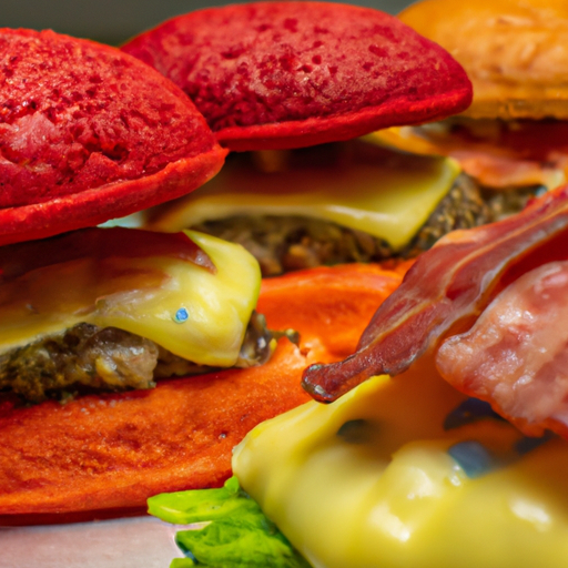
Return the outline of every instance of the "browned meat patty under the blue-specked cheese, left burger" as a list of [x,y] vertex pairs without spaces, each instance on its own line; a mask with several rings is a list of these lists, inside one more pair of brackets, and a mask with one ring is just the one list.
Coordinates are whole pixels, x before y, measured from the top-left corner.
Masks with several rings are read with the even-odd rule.
[[[264,363],[273,334],[264,316],[248,323],[237,367]],[[77,389],[151,388],[155,379],[203,374],[212,367],[185,361],[154,342],[116,327],[81,323],[0,356],[0,389],[39,403]]]

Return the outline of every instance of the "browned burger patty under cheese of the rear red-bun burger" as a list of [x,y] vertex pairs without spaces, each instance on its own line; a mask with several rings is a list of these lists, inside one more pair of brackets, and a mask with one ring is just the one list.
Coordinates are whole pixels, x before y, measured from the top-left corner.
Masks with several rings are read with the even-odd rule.
[[485,191],[462,174],[402,251],[362,231],[302,216],[234,216],[192,229],[243,245],[258,260],[263,276],[275,276],[322,265],[410,258],[450,231],[484,225],[520,211],[538,190]]

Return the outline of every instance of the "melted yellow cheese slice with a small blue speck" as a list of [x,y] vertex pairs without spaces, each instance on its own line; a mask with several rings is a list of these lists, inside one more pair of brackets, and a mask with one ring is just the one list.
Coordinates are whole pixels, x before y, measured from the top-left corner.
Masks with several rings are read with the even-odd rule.
[[187,234],[215,274],[172,257],[88,257],[2,284],[0,353],[87,322],[146,337],[199,364],[232,366],[258,297],[258,264],[242,246]]

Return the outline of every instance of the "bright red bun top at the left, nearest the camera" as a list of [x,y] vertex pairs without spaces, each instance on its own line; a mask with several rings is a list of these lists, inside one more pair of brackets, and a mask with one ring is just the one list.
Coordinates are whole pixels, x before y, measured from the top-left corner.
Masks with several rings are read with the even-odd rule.
[[187,97],[136,59],[0,29],[0,244],[187,193],[225,153]]

